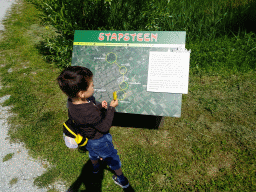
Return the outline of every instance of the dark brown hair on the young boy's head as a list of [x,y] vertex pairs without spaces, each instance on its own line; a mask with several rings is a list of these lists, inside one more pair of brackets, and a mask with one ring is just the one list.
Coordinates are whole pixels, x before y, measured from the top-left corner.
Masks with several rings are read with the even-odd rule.
[[92,81],[93,73],[80,66],[70,66],[64,69],[57,81],[60,89],[70,98],[75,98],[79,91],[87,91]]

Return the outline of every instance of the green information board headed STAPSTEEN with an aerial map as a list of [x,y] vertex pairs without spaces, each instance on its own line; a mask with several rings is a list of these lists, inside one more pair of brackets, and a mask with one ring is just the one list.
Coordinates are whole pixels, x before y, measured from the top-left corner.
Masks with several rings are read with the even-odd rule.
[[76,30],[72,66],[83,66],[93,72],[97,101],[110,103],[117,91],[116,112],[180,117],[182,93],[154,90],[152,82],[149,90],[148,77],[157,71],[157,62],[152,57],[160,54],[163,58],[161,53],[170,55],[185,50],[185,36],[185,31]]

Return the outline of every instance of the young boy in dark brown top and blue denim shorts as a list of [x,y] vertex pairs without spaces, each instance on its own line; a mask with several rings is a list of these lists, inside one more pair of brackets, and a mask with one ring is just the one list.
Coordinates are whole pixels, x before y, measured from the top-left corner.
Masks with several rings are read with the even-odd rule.
[[[112,177],[114,182],[122,188],[127,188],[129,182],[122,173],[121,161],[109,133],[118,100],[112,100],[109,107],[106,101],[96,105],[92,97],[93,74],[85,67],[68,67],[61,72],[57,81],[60,89],[68,96],[69,118],[80,127],[80,134],[88,138],[86,149],[92,161],[93,173],[98,173],[98,157],[102,157],[116,173]],[[106,113],[104,109],[107,109]]]

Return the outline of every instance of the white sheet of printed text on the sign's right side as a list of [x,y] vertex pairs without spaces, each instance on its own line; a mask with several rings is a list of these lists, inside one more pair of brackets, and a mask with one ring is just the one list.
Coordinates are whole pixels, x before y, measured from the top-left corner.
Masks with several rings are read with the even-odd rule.
[[190,51],[150,52],[147,91],[188,94]]

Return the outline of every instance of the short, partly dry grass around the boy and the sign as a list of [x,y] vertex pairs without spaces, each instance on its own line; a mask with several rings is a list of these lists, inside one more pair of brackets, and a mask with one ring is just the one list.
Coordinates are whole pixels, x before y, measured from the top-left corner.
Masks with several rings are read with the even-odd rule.
[[[9,119],[9,134],[12,141],[24,142],[32,157],[52,165],[35,179],[36,185],[63,180],[70,186],[83,178],[81,172],[88,174],[84,166],[90,160],[88,152],[64,144],[66,96],[55,81],[61,69],[39,49],[58,34],[40,24],[34,5],[21,2],[4,21],[0,42],[0,96],[11,95],[4,105],[12,105],[17,114]],[[135,191],[256,190],[256,71],[249,66],[255,64],[255,40],[254,33],[234,33],[186,44],[192,52],[181,118],[166,117],[160,130],[110,129]],[[112,174],[104,170],[102,191],[121,191]]]

